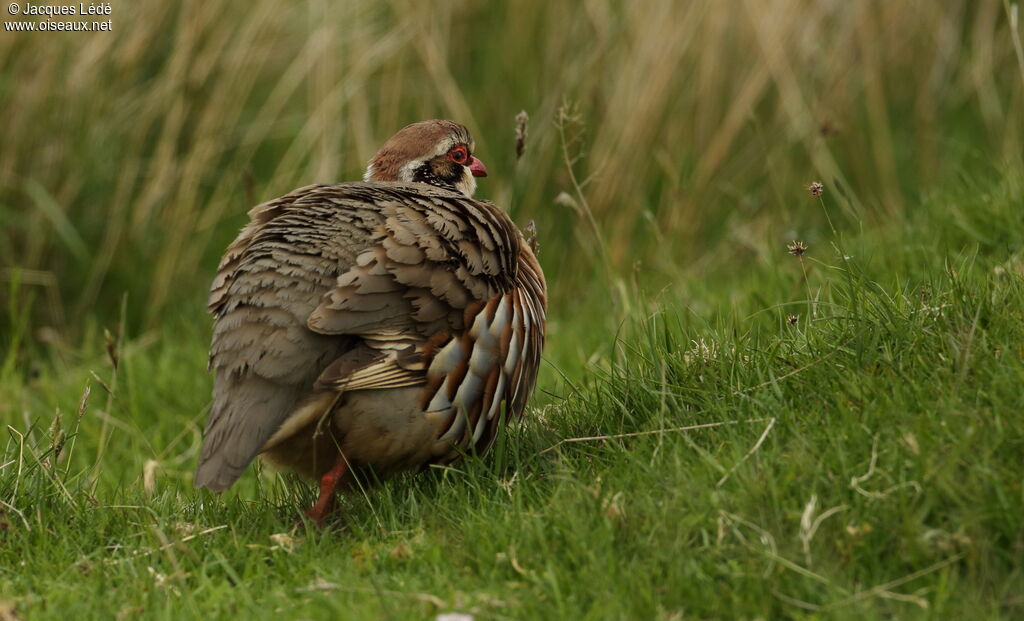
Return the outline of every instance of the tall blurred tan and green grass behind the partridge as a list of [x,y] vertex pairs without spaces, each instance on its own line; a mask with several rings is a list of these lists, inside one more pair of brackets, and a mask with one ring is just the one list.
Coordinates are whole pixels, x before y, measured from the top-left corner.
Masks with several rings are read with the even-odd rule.
[[1022,167],[1000,0],[112,4],[111,34],[0,37],[0,325],[22,358],[113,329],[125,296],[134,331],[200,321],[250,206],[358,178],[425,118],[469,125],[478,195],[537,221],[556,316],[594,276],[672,288],[813,241],[812,180],[871,225]]

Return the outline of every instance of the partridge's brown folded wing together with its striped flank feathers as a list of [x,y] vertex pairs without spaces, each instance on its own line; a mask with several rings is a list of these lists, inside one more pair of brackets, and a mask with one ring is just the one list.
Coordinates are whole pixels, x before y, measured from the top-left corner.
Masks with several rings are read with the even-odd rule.
[[378,347],[395,334],[418,335],[422,409],[449,416],[442,440],[483,450],[503,418],[522,414],[536,382],[544,275],[521,234],[487,203],[421,197],[387,204],[382,215],[375,243],[325,294],[309,327]]

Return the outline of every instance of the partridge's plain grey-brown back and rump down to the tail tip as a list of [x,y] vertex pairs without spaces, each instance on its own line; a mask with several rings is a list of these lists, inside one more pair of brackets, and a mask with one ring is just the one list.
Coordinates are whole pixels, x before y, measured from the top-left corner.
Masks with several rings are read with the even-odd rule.
[[331,187],[310,185],[255,207],[221,260],[209,300],[215,379],[197,487],[230,486],[323,369],[356,344],[306,328],[378,219],[333,200]]

